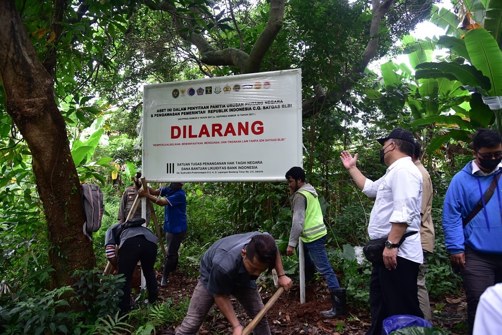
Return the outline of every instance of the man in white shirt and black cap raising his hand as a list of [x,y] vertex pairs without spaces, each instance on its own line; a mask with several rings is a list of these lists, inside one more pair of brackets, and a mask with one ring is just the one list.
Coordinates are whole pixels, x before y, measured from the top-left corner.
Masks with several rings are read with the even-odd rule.
[[357,187],[368,197],[375,197],[368,235],[370,239],[388,237],[383,263],[373,263],[369,282],[371,326],[367,335],[380,335],[382,322],[391,315],[410,314],[423,317],[417,297],[418,267],[423,262],[420,234],[422,174],[412,162],[415,138],[397,128],[377,140],[382,145],[381,162],[388,166],[376,181],[367,179],[356,167],[357,154],[340,154],[343,166]]

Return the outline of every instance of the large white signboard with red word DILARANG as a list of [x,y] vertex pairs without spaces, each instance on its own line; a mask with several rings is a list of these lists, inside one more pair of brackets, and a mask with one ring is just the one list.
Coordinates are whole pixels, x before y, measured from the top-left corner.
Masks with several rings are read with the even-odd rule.
[[301,69],[144,87],[148,181],[283,181],[302,163]]

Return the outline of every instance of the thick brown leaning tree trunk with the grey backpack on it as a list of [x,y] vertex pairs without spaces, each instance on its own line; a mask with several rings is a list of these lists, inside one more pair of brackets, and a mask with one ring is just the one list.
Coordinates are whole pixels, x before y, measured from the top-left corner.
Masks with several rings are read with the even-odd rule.
[[96,261],[82,232],[85,220],[66,125],[54,100],[54,80],[38,59],[14,1],[0,0],[0,80],[7,113],[28,144],[47,218],[52,286],[71,285],[75,270]]

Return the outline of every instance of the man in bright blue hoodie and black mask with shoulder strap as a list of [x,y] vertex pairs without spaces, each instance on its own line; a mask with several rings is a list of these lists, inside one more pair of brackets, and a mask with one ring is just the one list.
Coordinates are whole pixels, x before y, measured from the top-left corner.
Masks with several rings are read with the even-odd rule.
[[[460,269],[467,299],[467,322],[472,333],[479,297],[484,290],[502,282],[502,136],[494,130],[479,129],[474,134],[474,159],[451,180],[443,207],[445,245],[451,263]],[[486,202],[484,193],[496,181],[493,196]],[[468,222],[476,204],[482,208]]]

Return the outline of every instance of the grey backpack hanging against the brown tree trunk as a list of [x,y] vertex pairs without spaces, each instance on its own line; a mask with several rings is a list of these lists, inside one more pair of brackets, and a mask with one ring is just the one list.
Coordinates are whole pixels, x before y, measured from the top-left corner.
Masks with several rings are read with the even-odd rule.
[[82,184],[82,206],[84,207],[85,222],[82,227],[84,234],[92,241],[92,233],[101,227],[104,213],[103,191],[94,184]]

